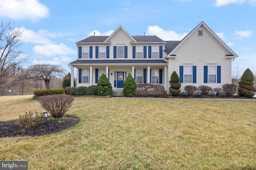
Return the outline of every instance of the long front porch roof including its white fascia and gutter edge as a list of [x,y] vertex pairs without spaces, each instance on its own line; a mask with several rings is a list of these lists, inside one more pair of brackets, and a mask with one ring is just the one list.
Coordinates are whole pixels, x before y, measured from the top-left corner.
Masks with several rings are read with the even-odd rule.
[[76,60],[68,65],[167,65],[164,60]]

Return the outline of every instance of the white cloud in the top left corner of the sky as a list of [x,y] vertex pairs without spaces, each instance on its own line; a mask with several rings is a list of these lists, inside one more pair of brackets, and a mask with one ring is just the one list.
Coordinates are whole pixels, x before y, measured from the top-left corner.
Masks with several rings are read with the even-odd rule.
[[0,0],[0,16],[13,20],[40,20],[50,15],[50,10],[38,0]]

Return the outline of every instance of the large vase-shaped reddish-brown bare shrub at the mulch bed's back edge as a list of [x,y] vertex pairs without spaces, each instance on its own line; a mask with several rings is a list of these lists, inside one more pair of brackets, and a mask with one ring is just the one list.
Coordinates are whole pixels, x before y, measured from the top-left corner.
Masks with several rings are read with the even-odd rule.
[[52,117],[60,118],[71,107],[74,97],[65,94],[56,94],[40,96],[37,100]]

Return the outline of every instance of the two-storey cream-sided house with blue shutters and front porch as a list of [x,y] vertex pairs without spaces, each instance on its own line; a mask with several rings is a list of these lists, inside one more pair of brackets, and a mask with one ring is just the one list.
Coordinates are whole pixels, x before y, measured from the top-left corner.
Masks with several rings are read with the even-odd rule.
[[90,36],[76,45],[71,83],[77,68],[77,86],[96,85],[104,73],[113,90],[122,90],[131,74],[137,84],[161,84],[168,92],[174,71],[182,92],[187,85],[222,88],[231,84],[232,61],[238,57],[203,21],[181,41],[130,35],[120,25],[110,36]]

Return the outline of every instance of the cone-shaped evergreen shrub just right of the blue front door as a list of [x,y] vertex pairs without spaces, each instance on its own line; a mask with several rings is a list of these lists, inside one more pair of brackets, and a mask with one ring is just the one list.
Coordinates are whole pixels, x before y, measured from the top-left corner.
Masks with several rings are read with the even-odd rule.
[[129,74],[124,81],[124,86],[123,86],[124,96],[133,97],[132,92],[136,90],[136,87],[137,87],[137,84],[134,78],[132,77],[131,74]]

